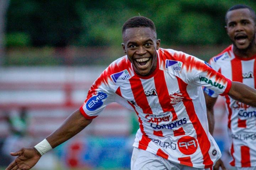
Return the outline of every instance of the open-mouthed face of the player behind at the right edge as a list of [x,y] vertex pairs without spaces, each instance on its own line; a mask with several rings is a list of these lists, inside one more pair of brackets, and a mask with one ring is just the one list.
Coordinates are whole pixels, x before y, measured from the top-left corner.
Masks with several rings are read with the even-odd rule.
[[255,39],[255,22],[247,8],[227,13],[226,31],[233,44],[240,50],[246,50]]

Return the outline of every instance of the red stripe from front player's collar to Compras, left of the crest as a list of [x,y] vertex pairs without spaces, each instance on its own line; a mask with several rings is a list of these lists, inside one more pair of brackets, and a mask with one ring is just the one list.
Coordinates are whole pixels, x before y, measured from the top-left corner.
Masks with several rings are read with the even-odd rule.
[[164,71],[159,70],[158,74],[154,76],[156,91],[158,92],[158,100],[162,107],[163,112],[172,113],[172,121],[178,119],[177,114],[174,110],[174,107],[171,104],[171,99],[167,89]]

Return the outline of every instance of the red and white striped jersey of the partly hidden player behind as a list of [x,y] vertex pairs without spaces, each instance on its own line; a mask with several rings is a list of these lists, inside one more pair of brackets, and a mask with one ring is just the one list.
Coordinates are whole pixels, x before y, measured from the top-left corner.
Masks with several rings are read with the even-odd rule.
[[[219,55],[210,59],[210,66],[232,81],[239,81],[252,88],[256,87],[256,60],[240,58],[233,52],[230,45]],[[217,97],[214,91],[205,89],[209,96]],[[226,112],[228,114],[228,128],[232,145],[230,154],[232,166],[256,166],[256,108],[233,100],[225,96]]]

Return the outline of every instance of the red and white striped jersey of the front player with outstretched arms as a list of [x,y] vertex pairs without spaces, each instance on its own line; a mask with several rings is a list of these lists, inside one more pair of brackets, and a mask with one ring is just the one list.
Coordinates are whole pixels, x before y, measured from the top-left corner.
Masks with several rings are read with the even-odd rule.
[[231,81],[207,62],[171,49],[158,50],[158,66],[148,77],[137,75],[123,56],[94,82],[80,112],[92,119],[107,104],[120,103],[138,115],[134,147],[179,164],[211,168],[221,153],[208,132],[201,86],[226,95]]

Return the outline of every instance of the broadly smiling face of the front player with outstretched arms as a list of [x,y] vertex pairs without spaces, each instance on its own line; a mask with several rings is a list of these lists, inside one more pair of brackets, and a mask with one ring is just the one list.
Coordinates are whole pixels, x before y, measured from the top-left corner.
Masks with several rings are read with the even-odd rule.
[[148,76],[155,70],[160,40],[156,40],[154,30],[149,27],[128,28],[123,33],[122,46],[137,74]]

